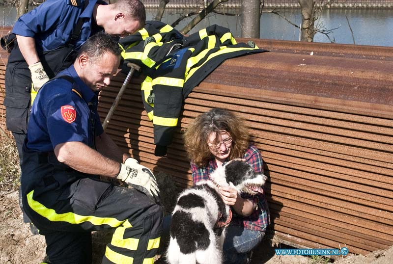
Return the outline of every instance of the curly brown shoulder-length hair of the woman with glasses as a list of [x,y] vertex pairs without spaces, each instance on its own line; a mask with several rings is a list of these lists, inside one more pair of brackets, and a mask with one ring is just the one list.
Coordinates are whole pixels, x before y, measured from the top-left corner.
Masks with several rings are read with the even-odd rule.
[[[198,166],[208,165],[213,157],[207,145],[209,135],[219,135],[226,131],[232,137],[232,150],[229,159],[242,158],[249,147],[250,133],[243,118],[223,108],[213,108],[200,114],[184,133],[184,146],[189,158]],[[216,142],[217,141],[217,142]],[[216,136],[215,142],[219,143]]]

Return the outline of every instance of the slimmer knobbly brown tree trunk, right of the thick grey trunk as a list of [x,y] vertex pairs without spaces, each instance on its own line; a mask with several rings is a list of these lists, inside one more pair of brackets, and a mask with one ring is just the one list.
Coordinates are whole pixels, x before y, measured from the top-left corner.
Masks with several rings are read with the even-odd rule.
[[315,0],[299,0],[302,12],[301,41],[313,42],[315,35],[314,22],[316,19]]

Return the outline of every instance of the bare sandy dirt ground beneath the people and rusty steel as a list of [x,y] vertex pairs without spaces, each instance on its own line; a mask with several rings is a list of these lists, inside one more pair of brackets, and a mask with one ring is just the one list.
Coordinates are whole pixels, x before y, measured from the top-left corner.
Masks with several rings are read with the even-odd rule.
[[[0,192],[0,264],[39,264],[45,254],[43,236],[33,236],[28,224],[23,223],[22,211],[18,205],[17,191]],[[105,245],[111,233],[93,234],[93,263],[101,263]],[[262,243],[253,255],[252,264],[326,264],[327,262],[303,256],[277,256],[268,241]],[[165,264],[158,258],[157,264]],[[392,264],[393,247],[388,250],[372,252],[367,256],[350,255],[334,262],[335,264]]]

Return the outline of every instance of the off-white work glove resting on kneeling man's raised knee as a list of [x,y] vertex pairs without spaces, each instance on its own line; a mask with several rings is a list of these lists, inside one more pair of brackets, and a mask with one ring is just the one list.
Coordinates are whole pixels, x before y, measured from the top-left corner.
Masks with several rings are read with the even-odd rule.
[[137,190],[152,196],[156,202],[160,201],[160,190],[158,189],[156,178],[153,173],[138,163],[134,158],[127,158],[116,179],[131,185]]

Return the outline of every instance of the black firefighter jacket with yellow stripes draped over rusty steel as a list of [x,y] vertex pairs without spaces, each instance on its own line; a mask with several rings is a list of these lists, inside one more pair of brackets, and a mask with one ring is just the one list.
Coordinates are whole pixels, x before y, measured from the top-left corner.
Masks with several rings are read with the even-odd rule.
[[[156,156],[164,156],[172,142],[182,103],[205,77],[225,59],[260,53],[253,43],[237,43],[229,29],[209,26],[189,36],[158,21],[120,40],[123,70],[133,62],[142,67],[145,79],[141,94],[148,117],[153,121]],[[164,155],[157,148],[165,148]]]

